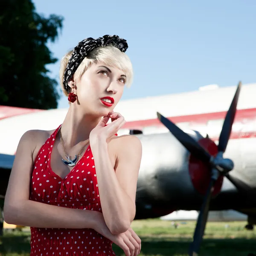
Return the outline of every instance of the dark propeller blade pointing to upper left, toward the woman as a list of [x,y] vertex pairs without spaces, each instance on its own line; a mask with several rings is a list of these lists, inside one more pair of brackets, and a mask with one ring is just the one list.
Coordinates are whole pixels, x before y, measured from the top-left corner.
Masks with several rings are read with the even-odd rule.
[[210,161],[211,155],[192,137],[178,128],[172,121],[162,116],[159,112],[157,112],[157,117],[191,154],[194,154],[202,161]]

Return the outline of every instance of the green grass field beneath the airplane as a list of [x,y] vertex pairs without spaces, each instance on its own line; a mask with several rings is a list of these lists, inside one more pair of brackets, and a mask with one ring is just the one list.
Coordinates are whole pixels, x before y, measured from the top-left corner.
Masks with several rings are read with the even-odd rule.
[[[141,256],[187,256],[195,228],[195,221],[177,222],[150,219],[134,221],[135,232],[142,239]],[[247,256],[256,254],[256,231],[244,230],[246,222],[213,223],[206,227],[200,256]],[[228,226],[227,226],[228,225]],[[26,231],[6,232],[0,238],[1,256],[29,256],[30,233]],[[113,244],[117,256],[122,250]]]

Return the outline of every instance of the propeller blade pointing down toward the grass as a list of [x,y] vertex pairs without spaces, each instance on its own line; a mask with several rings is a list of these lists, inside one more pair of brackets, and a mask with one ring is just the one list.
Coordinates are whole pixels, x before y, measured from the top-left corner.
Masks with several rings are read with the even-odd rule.
[[202,207],[198,216],[198,221],[195,228],[193,242],[189,248],[189,256],[198,255],[199,247],[204,236],[204,229],[205,229],[207,218],[208,218],[209,204],[212,196],[214,183],[215,183],[215,179],[211,179],[209,186],[207,188],[206,195],[204,196],[204,202],[202,204]]

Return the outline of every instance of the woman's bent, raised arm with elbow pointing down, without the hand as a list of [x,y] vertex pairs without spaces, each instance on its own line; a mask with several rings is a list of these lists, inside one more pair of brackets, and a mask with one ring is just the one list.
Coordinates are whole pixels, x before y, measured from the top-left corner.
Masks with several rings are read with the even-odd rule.
[[[117,142],[118,141],[118,142]],[[136,136],[115,140],[116,165],[113,168],[104,137],[94,140],[93,152],[102,212],[113,234],[123,233],[134,219],[137,179],[142,145]]]

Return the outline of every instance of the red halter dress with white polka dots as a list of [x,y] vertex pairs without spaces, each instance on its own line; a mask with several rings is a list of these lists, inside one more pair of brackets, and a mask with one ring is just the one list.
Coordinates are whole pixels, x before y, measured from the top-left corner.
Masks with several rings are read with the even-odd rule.
[[[62,179],[49,163],[61,125],[42,145],[33,166],[30,200],[59,207],[99,211],[101,204],[90,145],[72,171]],[[112,241],[93,229],[31,227],[31,256],[113,256]]]

